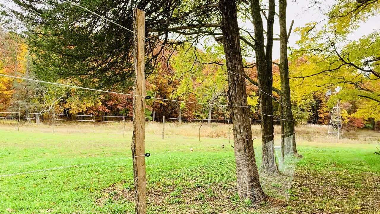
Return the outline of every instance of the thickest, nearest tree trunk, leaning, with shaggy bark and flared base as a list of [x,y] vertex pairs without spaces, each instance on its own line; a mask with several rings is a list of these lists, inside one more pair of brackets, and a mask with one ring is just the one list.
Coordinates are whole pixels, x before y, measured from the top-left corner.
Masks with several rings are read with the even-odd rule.
[[[247,106],[245,73],[240,50],[237,9],[234,0],[221,0],[223,47],[228,72],[228,97],[231,105]],[[241,75],[241,76],[238,76]],[[234,152],[236,158],[237,192],[259,204],[264,198],[253,150],[252,130],[247,107],[232,107],[234,124]]]

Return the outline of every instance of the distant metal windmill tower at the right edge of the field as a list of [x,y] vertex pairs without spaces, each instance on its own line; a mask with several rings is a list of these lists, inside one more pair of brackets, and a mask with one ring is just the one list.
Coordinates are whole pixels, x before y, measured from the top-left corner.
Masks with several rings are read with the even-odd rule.
[[[335,88],[333,93],[338,93],[340,91],[340,87]],[[331,91],[327,91],[326,96],[330,96]],[[329,131],[327,137],[337,137],[338,139],[342,136],[342,117],[340,115],[340,103],[336,104],[335,107],[332,108],[330,123],[329,123]]]

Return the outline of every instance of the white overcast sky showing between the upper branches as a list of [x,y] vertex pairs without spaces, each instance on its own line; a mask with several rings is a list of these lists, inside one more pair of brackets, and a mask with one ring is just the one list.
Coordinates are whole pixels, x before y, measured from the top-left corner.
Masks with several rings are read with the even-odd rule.
[[[327,1],[326,1],[327,2]],[[326,3],[324,2],[324,3]],[[312,21],[321,21],[325,18],[324,13],[329,9],[329,7],[336,2],[335,0],[329,0],[330,4],[325,4],[322,8],[312,7],[309,9],[310,0],[288,0],[287,6],[287,27],[289,29],[291,21],[294,19],[292,33],[289,38],[290,46],[295,46],[296,41],[300,39],[299,35],[294,34],[294,29],[296,27],[303,27],[305,24]],[[276,6],[276,11],[278,7]],[[251,23],[240,23],[242,26],[249,28],[253,31],[253,26]],[[348,39],[356,40],[363,35],[370,34],[375,29],[380,29],[380,16],[375,16],[359,24],[360,27],[358,30],[353,32]],[[279,21],[275,19],[274,22],[274,33],[279,34]],[[274,41],[273,44],[273,57],[272,59],[280,58],[280,41]],[[253,58],[250,58],[249,61],[252,61]]]

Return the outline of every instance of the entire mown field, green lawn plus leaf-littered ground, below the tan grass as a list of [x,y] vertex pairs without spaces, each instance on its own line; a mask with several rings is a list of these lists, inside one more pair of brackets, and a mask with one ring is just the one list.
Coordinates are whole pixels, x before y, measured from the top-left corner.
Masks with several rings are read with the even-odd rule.
[[[303,158],[293,162],[294,178],[261,177],[265,192],[275,200],[251,209],[250,201],[239,201],[234,194],[228,135],[202,135],[199,142],[195,128],[181,135],[177,129],[168,126],[163,140],[160,130],[147,127],[146,152],[152,154],[146,158],[149,213],[253,214],[281,207],[277,213],[380,211],[377,141],[299,139]],[[112,126],[92,131],[90,126],[70,126],[52,134],[51,126],[23,126],[17,133],[15,126],[1,126],[0,175],[125,159],[0,177],[0,213],[133,213],[130,129],[125,137]],[[260,159],[260,140],[254,146]]]

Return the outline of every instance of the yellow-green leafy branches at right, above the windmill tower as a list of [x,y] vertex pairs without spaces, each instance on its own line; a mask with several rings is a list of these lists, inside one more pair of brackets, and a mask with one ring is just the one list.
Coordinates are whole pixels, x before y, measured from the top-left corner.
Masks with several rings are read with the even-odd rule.
[[[379,12],[378,1],[336,1],[326,13],[326,22],[296,29],[301,40],[293,58],[292,84],[308,86],[298,87],[300,93],[310,95],[341,86],[343,90],[332,96],[332,101],[362,99],[366,105],[359,107],[356,117],[380,113],[376,108],[380,103],[380,32],[374,30],[358,40],[348,40],[359,23]],[[329,103],[334,105],[332,101]]]

